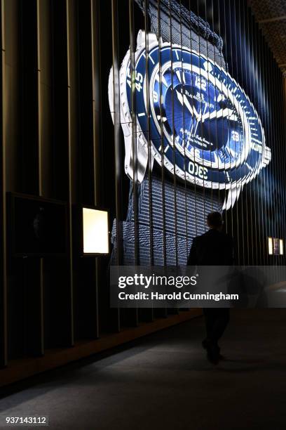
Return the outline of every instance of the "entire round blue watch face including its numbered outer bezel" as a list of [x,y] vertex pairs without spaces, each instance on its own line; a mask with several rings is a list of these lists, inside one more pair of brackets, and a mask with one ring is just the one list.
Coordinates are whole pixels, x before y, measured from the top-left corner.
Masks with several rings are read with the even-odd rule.
[[[265,161],[264,130],[249,98],[221,67],[179,46],[163,44],[137,55],[131,84],[125,71],[128,109],[145,145],[172,174],[208,188],[252,180]],[[134,100],[134,99],[133,99]],[[270,150],[268,150],[270,157]]]

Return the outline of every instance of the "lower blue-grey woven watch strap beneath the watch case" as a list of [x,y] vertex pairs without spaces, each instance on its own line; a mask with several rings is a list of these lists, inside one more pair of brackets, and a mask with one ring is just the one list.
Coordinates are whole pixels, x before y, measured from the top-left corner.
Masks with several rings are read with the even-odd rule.
[[[150,189],[151,187],[151,189]],[[123,264],[135,264],[135,214],[133,186],[130,184],[128,214],[123,221]],[[150,192],[151,191],[151,192]],[[222,211],[217,195],[193,190],[184,185],[152,175],[137,188],[137,235],[141,265],[185,265],[193,237],[202,235],[207,228],[205,219],[210,211]],[[150,223],[151,221],[151,223]],[[112,229],[116,261],[116,223]],[[165,255],[164,246],[165,243]],[[151,247],[152,244],[152,247]],[[151,253],[152,248],[152,253]],[[151,261],[151,257],[153,257]]]

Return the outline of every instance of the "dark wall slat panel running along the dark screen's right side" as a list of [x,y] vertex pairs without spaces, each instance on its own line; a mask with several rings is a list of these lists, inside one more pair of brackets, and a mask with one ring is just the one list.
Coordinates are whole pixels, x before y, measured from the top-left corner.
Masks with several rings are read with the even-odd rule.
[[[74,129],[71,131],[74,94],[71,91],[69,27],[73,11],[65,0],[50,1],[52,71],[52,186],[51,197],[68,202],[68,250],[65,258],[45,259],[44,327],[45,347],[74,344],[74,308],[71,244],[71,158]],[[72,12],[70,12],[72,13]],[[47,71],[48,72],[48,71]]]

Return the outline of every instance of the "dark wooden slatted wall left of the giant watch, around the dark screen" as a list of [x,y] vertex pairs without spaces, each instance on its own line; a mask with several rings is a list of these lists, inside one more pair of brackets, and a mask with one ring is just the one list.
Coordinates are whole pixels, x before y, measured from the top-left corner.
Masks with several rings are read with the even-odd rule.
[[[73,250],[73,205],[103,205],[114,193],[102,173],[100,3],[1,1],[0,366],[9,372],[15,360],[153,320],[111,310],[107,259]],[[67,258],[10,258],[8,192],[68,202]]]

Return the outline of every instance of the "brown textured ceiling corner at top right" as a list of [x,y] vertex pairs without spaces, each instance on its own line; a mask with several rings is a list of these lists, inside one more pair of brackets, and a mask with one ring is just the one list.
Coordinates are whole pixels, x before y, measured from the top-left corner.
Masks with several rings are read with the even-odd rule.
[[274,57],[286,75],[286,0],[248,0]]

